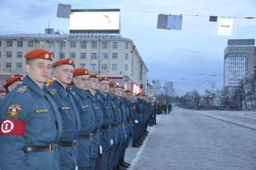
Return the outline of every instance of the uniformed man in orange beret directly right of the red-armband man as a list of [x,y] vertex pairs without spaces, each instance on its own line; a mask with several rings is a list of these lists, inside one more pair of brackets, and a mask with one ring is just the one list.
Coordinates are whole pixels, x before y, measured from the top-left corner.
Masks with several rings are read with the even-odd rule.
[[76,140],[80,132],[80,115],[73,100],[73,94],[67,86],[73,78],[72,59],[58,60],[53,63],[56,80],[49,88],[49,93],[55,100],[61,112],[63,122],[61,141],[61,170],[76,169]]

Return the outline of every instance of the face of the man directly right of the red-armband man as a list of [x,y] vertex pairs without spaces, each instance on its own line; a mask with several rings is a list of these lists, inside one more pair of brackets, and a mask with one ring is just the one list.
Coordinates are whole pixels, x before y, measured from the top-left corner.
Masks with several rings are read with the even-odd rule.
[[55,69],[56,79],[64,85],[69,85],[73,79],[73,66],[64,64]]

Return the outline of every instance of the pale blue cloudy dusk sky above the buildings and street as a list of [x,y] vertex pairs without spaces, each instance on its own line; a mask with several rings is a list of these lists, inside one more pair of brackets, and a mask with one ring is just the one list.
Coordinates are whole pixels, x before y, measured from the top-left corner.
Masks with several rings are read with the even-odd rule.
[[[209,17],[256,17],[255,0],[0,0],[0,35],[43,33],[48,27],[69,32],[57,18],[58,3],[72,9],[120,8],[121,34],[132,39],[148,67],[148,81],[174,82],[179,94],[223,88],[223,51],[228,39],[256,39],[256,18],[233,20],[233,36],[217,36]],[[183,14],[182,30],[157,29],[158,14]],[[187,15],[189,14],[189,16]]]

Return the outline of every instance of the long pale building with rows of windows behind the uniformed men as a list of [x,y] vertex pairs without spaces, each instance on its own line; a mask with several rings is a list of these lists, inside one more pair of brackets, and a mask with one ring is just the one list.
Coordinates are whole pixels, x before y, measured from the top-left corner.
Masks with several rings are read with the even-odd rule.
[[71,58],[76,68],[131,88],[134,92],[147,87],[148,68],[133,40],[120,36],[95,34],[14,34],[0,36],[0,80],[25,73],[24,55],[35,48],[52,51],[55,60]]

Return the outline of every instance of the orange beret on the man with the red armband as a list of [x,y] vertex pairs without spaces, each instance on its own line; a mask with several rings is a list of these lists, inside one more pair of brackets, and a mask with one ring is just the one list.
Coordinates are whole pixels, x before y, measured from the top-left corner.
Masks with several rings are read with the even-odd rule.
[[35,59],[35,58],[40,58],[40,59],[45,59],[45,60],[52,60],[52,53],[50,51],[47,51],[45,49],[35,49],[33,51],[28,52],[25,55],[25,58],[27,60],[29,59]]

